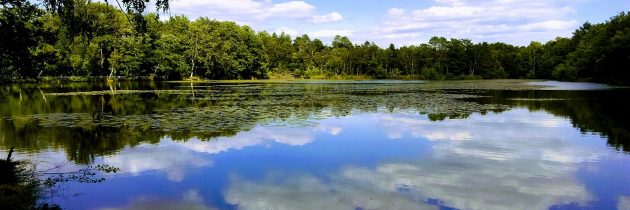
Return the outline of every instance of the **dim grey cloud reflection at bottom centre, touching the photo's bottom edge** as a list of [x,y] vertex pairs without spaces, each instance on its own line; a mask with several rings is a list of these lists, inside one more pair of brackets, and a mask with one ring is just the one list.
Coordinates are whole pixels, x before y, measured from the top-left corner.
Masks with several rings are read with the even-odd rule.
[[300,175],[256,183],[232,180],[226,200],[241,209],[437,209],[393,192]]

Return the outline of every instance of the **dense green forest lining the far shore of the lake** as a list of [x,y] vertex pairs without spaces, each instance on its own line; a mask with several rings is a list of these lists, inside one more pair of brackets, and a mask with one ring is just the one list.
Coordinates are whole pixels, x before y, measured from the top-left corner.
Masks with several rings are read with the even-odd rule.
[[[55,7],[64,2],[71,6]],[[71,3],[71,4],[70,4]],[[528,46],[433,37],[381,48],[337,36],[257,32],[234,22],[174,16],[144,5],[1,0],[0,81],[45,77],[175,80],[266,78],[539,78],[630,84],[630,13],[585,23],[571,38]],[[166,4],[168,1],[158,1]],[[160,8],[160,7],[158,7]]]

